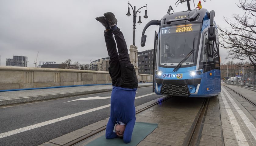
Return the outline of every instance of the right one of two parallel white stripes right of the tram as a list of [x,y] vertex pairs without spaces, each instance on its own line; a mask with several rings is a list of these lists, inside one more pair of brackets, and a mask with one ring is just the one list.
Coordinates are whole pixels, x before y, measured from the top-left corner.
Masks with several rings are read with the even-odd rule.
[[248,117],[244,114],[244,112],[237,106],[237,104],[235,103],[235,101],[229,96],[228,92],[224,89],[224,92],[226,93],[226,95],[228,96],[230,102],[233,104],[233,106],[235,107],[237,113],[239,113],[239,115],[241,116],[242,120],[244,121],[245,125],[247,126],[247,128],[250,130],[252,136],[254,137],[254,139],[256,140],[256,128],[254,127],[254,125],[251,123],[251,121],[248,119]]

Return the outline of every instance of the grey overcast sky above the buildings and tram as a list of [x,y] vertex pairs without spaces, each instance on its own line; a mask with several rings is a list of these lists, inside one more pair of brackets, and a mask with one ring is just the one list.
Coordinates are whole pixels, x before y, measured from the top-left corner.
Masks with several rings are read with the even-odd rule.
[[[250,0],[249,0],[250,1]],[[169,5],[175,12],[187,10],[184,2],[176,7],[176,0],[130,0],[136,9],[148,5],[148,19],[144,19],[145,8],[141,10],[141,21],[136,23],[135,46],[138,51],[150,50],[154,46],[154,32],[157,26],[150,26],[146,31],[145,47],[140,46],[144,26],[152,19],[160,20],[167,13]],[[195,0],[195,5],[199,0]],[[229,26],[223,16],[244,15],[237,7],[239,0],[201,0],[202,7],[215,11],[215,22],[221,28]],[[193,1],[190,1],[194,9]],[[133,42],[133,17],[126,16],[128,1],[124,0],[0,0],[0,55],[1,66],[6,65],[6,58],[13,55],[27,56],[28,67],[34,67],[39,61],[55,61],[60,64],[71,59],[73,64],[79,61],[88,64],[91,61],[108,57],[103,30],[95,20],[105,12],[113,12],[118,19],[117,26],[126,39],[127,47]],[[130,9],[132,12],[132,9]],[[137,13],[137,21],[139,19]],[[226,63],[227,50],[220,48],[221,63]]]

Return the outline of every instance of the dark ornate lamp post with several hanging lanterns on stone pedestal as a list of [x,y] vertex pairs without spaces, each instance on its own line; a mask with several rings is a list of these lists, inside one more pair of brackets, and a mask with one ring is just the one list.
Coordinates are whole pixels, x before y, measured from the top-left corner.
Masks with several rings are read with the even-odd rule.
[[[136,7],[134,6],[134,8],[133,8],[133,6],[130,4],[130,2],[128,2],[128,12],[127,12],[127,16],[129,17],[129,16],[131,16],[131,13],[130,13],[130,6],[131,6],[131,8],[132,8],[132,10],[133,10],[133,46],[135,46],[135,29],[136,29],[136,17],[137,17],[137,12],[139,12],[140,13],[140,9],[141,8],[143,8],[143,7],[146,7],[146,10],[145,10],[145,15],[143,16],[145,19],[147,19],[148,18],[148,15],[147,15],[147,4],[145,5],[145,6],[143,6],[143,7],[141,7],[140,9],[138,9],[137,11],[136,11]],[[140,16],[139,16],[139,21],[138,21],[138,23],[140,24],[140,23],[142,23],[141,21],[140,21]]]

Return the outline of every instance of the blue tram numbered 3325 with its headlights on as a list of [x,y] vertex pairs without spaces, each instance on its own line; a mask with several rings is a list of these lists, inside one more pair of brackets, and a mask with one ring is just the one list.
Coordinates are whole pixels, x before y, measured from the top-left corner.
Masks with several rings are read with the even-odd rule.
[[161,20],[151,20],[146,29],[155,32],[153,91],[158,95],[211,97],[220,93],[219,38],[215,12],[194,9],[173,12],[171,6]]

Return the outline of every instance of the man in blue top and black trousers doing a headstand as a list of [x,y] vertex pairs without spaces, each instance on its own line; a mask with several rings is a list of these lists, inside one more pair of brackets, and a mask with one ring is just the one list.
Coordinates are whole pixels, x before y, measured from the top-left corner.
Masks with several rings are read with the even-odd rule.
[[[123,141],[129,143],[136,120],[134,106],[138,87],[136,72],[133,64],[131,64],[123,33],[116,26],[117,19],[115,15],[107,12],[104,16],[97,17],[96,20],[105,27],[104,36],[108,56],[110,57],[108,71],[113,86],[106,138],[123,137]],[[114,127],[115,132],[113,132]]]

